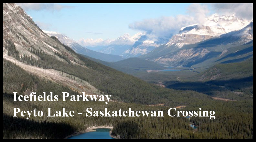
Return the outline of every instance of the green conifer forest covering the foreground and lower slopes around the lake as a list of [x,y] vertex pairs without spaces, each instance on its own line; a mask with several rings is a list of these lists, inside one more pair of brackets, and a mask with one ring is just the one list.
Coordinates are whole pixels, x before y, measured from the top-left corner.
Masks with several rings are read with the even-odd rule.
[[[16,51],[14,47],[8,47],[8,49],[11,51],[10,54],[15,55]],[[74,76],[78,76],[99,86],[98,88],[102,88],[102,92],[111,94],[116,101],[123,100],[126,103],[111,102],[106,105],[98,101],[68,101],[65,103],[61,101],[13,102],[13,90],[16,90],[20,95],[32,91],[53,92],[53,94],[72,92],[74,95],[79,93],[55,82],[29,74],[14,63],[4,60],[4,138],[13,138],[13,136],[16,138],[64,138],[73,132],[85,130],[87,127],[105,125],[113,126],[112,135],[119,136],[120,138],[252,138],[253,107],[251,98],[225,102],[213,100],[210,96],[196,91],[163,88],[92,62],[82,56],[80,58],[84,61],[84,64],[90,66],[92,69],[97,68],[97,72],[81,72],[82,68],[80,66],[70,65],[68,62],[56,63],[56,61],[51,61],[51,56],[43,52],[33,51],[33,49],[30,51],[41,57],[39,62],[33,62],[37,63],[34,66],[38,66],[40,63],[40,66],[44,68],[54,68],[65,73],[73,73]],[[32,63],[29,58],[26,60],[25,58],[19,58],[19,60],[26,64]],[[61,66],[64,65],[65,70],[62,70]],[[113,74],[112,71],[114,72]],[[105,74],[105,76],[100,76],[98,72]],[[80,73],[83,73],[84,77]],[[90,74],[90,77],[88,75],[86,76],[86,74]],[[93,79],[94,74],[97,78]],[[107,75],[112,76],[112,79],[116,78],[115,81],[120,81],[120,83],[112,84],[108,82],[109,80],[105,78]],[[119,76],[122,77],[120,78]],[[96,79],[100,79],[102,82],[97,82],[95,81]],[[122,82],[124,79],[131,80],[131,82]],[[13,84],[13,80],[15,80],[15,84]],[[129,90],[127,92],[127,89],[131,91]],[[118,91],[122,91],[123,93],[118,93]],[[155,96],[152,92],[158,95]],[[138,95],[136,95],[137,93]],[[138,101],[133,102],[135,98]],[[165,103],[164,107],[145,106],[163,102]],[[198,129],[195,131],[188,125],[186,118],[169,117],[167,115],[168,108],[180,105],[187,106],[183,110],[198,110],[199,107],[205,110],[216,110],[216,119],[210,120],[208,117],[192,117],[190,121],[198,126]],[[67,110],[75,109],[74,111],[79,110],[84,113],[88,107],[94,110],[102,110],[104,107],[108,107],[109,110],[118,110],[120,108],[125,110],[128,107],[131,107],[134,111],[163,110],[164,117],[84,117],[76,115],[72,118],[30,117],[29,120],[21,117],[12,117],[13,107],[19,107],[21,110],[33,110],[37,108],[38,110],[47,112],[46,109],[49,106],[55,110],[65,107]],[[15,128],[16,131],[13,131]]]

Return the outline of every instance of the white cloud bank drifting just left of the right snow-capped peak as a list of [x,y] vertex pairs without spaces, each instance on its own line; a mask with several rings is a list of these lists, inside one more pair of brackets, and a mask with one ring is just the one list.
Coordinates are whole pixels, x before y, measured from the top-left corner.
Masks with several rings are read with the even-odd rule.
[[130,24],[129,28],[146,31],[152,38],[166,37],[178,33],[183,26],[203,23],[208,12],[206,5],[192,4],[187,8],[188,15],[144,19]]

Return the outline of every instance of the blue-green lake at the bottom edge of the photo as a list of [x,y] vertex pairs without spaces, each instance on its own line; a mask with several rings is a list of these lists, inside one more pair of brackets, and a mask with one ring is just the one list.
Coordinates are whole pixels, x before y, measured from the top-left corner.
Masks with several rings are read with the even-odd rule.
[[70,139],[74,139],[74,138],[105,138],[105,139],[113,139],[113,137],[110,136],[109,131],[111,131],[111,129],[108,128],[98,128],[95,129],[96,131],[91,131],[91,132],[86,132],[86,133],[82,133],[76,136],[71,136],[69,137]]

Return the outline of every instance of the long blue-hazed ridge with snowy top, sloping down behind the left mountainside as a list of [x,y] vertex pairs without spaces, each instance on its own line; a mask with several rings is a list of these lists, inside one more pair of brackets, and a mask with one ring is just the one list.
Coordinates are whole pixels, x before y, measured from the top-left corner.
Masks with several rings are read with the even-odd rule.
[[131,58],[125,59],[124,57],[118,56],[118,55],[111,55],[111,54],[96,52],[88,48],[82,47],[73,39],[65,35],[62,35],[60,33],[45,31],[45,30],[42,30],[42,31],[46,33],[48,36],[55,36],[61,43],[69,46],[75,52],[87,58],[90,58],[93,61],[112,67],[124,73],[132,74],[136,72],[146,72],[146,70],[166,69],[166,67],[161,66],[155,62],[138,58],[138,57],[131,57]]

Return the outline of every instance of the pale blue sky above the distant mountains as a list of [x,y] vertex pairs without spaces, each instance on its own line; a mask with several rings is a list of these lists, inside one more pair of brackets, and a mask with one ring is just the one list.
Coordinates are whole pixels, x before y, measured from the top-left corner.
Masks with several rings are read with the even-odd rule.
[[[134,35],[139,31],[155,29],[154,27],[147,27],[148,25],[141,25],[144,20],[149,20],[152,26],[156,26],[159,25],[157,22],[161,23],[161,20],[166,19],[165,17],[173,17],[173,21],[175,21],[175,19],[179,19],[177,17],[180,15],[198,15],[194,13],[195,11],[203,13],[204,16],[216,12],[216,9],[212,8],[213,6],[210,4],[196,4],[194,8],[191,7],[193,4],[18,5],[33,18],[33,21],[41,29],[59,32],[76,41],[81,38],[115,39],[125,33]],[[197,18],[195,17],[195,19]],[[181,24],[178,25],[172,29],[180,28]]]

